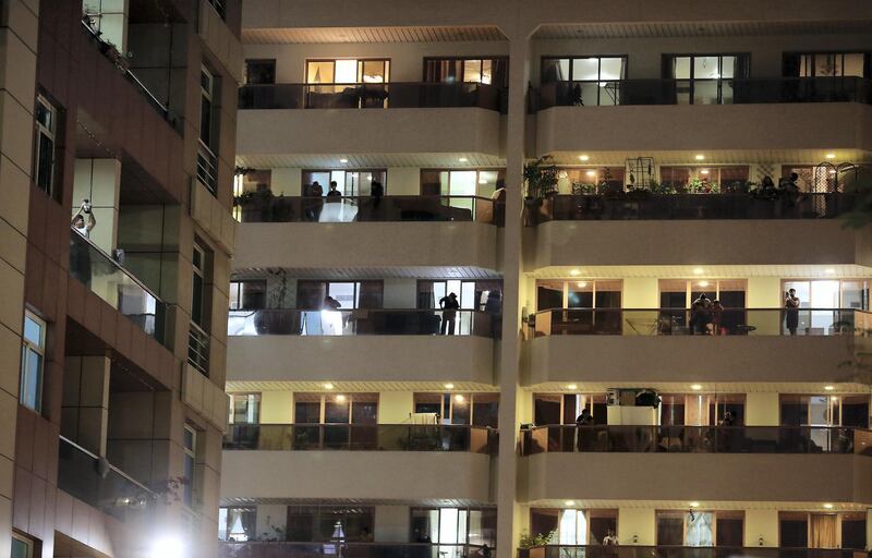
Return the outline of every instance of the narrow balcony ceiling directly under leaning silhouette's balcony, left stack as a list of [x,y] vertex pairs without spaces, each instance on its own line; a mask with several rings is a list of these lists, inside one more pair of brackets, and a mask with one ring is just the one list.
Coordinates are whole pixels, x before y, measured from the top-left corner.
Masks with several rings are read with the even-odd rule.
[[[326,378],[325,381],[330,380]],[[382,391],[445,391],[445,384],[441,381],[330,381],[334,385],[330,393],[375,393]],[[476,384],[474,381],[455,381],[452,391],[489,391],[499,392],[497,386],[488,384]],[[228,381],[225,387],[227,392],[231,391],[324,391],[322,381]]]

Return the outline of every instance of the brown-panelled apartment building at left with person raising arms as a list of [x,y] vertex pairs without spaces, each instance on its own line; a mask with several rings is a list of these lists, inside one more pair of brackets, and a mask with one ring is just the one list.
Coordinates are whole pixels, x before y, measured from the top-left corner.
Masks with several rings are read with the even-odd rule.
[[0,555],[215,556],[241,2],[0,12]]

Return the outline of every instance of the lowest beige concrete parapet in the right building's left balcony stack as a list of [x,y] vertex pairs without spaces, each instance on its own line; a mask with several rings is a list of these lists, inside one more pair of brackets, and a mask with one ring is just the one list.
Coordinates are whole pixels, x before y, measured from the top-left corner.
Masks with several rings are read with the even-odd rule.
[[[227,451],[225,498],[487,502],[491,458],[432,451]],[[277,474],[293,471],[293,475]],[[361,482],[361,474],[366,482]],[[326,480],[329,482],[316,482]]]

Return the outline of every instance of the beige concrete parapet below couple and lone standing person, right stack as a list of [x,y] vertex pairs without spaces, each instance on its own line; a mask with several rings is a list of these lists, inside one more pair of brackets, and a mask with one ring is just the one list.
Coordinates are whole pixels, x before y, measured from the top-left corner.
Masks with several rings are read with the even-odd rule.
[[[852,337],[550,336],[530,342],[544,381],[845,381]],[[579,359],[583,354],[584,359]]]

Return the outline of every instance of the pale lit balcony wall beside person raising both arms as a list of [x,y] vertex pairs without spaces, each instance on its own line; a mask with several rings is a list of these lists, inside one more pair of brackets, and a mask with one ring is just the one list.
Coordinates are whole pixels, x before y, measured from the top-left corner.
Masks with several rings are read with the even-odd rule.
[[73,178],[75,215],[82,201],[90,199],[97,225],[90,240],[111,254],[118,245],[118,205],[121,191],[121,161],[117,159],[76,159]]

